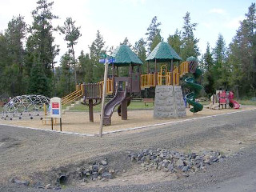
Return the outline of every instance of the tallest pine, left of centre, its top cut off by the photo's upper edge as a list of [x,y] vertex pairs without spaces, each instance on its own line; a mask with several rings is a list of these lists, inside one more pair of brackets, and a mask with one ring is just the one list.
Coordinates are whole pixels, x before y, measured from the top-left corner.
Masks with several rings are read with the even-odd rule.
[[[52,26],[52,20],[58,17],[50,11],[54,2],[39,0],[37,4],[38,6],[36,9],[32,11],[34,22],[30,27],[31,34],[26,43],[26,52],[28,54],[26,57],[26,70],[28,70],[26,71],[26,74],[31,75],[33,67],[40,69],[34,71],[40,71],[38,74],[42,74],[42,77],[38,76],[38,78],[47,78],[46,82],[48,82],[48,84],[38,85],[38,87],[46,86],[46,90],[51,91],[54,90],[54,86],[52,87],[54,79],[54,58],[58,54],[58,46],[54,45],[54,27]],[[30,78],[32,77],[30,76]],[[30,82],[32,82],[31,79]],[[38,81],[38,83],[40,82],[41,81]],[[29,86],[30,92],[37,92],[38,89],[36,86]]]

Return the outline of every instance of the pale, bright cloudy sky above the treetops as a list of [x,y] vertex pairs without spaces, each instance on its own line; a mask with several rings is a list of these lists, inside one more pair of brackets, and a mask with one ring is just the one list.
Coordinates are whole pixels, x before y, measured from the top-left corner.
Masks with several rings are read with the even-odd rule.
[[[0,31],[6,30],[13,16],[21,14],[27,24],[33,22],[32,10],[37,0],[0,0]],[[49,1],[50,2],[50,1]],[[82,37],[74,47],[76,58],[81,50],[89,53],[89,46],[96,38],[97,30],[106,46],[118,46],[127,37],[134,45],[146,32],[154,16],[161,22],[161,35],[164,41],[175,30],[182,30],[186,12],[190,12],[191,22],[198,23],[194,31],[199,39],[198,47],[206,52],[206,43],[213,48],[222,34],[226,46],[232,41],[239,22],[245,18],[251,0],[54,0],[52,13],[59,19],[54,26],[62,26],[67,17],[73,18],[76,26],[81,26]],[[59,62],[67,51],[64,37],[54,34],[55,43],[60,45]]]

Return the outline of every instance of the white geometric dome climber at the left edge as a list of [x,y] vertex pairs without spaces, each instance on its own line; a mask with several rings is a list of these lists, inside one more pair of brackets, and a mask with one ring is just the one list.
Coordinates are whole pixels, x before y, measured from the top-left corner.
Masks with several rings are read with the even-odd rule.
[[10,99],[9,102],[3,107],[2,119],[14,118],[30,118],[33,119],[34,116],[40,116],[43,114],[44,104],[50,104],[50,98],[43,95],[22,95]]

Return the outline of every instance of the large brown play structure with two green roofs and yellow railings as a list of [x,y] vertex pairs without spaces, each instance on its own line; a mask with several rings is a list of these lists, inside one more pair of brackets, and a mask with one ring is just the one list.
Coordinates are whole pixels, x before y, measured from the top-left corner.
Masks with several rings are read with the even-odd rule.
[[[106,81],[106,94],[114,97],[104,108],[104,125],[111,125],[111,116],[116,106],[118,106],[118,115],[126,120],[127,106],[131,98],[141,90],[156,86],[179,86],[179,80],[183,75],[190,72],[200,75],[197,70],[198,62],[195,62],[194,58],[180,64],[182,58],[166,42],[160,42],[146,58],[147,74],[141,73],[142,62],[129,46],[119,46],[112,56],[115,62],[110,64],[112,74],[108,75]],[[152,62],[154,66],[150,65]],[[119,77],[118,68],[120,67],[129,67],[128,77]],[[202,90],[202,86],[191,78],[186,79],[186,83],[194,89],[193,94],[189,94],[186,99],[190,105],[194,106],[193,112],[196,113],[202,110],[202,105],[194,101],[199,90]],[[73,93],[62,98],[62,105],[83,98],[84,103],[89,106],[90,122],[94,122],[93,106],[102,101],[102,87],[103,82],[80,84]]]

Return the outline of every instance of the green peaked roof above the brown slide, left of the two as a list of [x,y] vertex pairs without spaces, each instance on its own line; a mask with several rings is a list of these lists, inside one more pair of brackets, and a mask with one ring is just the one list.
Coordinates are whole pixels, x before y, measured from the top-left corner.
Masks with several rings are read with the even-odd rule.
[[114,51],[112,56],[115,58],[115,66],[129,66],[130,64],[142,65],[142,61],[138,58],[129,46],[122,45]]

